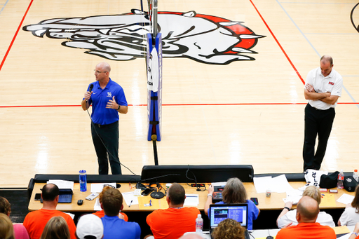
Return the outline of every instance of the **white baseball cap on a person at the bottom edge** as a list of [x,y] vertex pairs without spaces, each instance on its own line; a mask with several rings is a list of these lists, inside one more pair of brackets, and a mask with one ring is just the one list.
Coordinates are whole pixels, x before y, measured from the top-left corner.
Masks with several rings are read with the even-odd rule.
[[87,238],[87,235],[90,235],[89,238],[101,239],[104,235],[104,226],[100,217],[94,214],[86,214],[80,217],[76,226],[76,235],[79,239]]

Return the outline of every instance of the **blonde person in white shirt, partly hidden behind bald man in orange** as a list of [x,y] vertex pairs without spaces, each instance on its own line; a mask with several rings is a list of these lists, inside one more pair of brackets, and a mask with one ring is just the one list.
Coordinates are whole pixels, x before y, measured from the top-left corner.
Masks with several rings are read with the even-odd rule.
[[[316,186],[307,186],[303,192],[303,196],[309,196],[317,201],[318,205],[322,201],[322,193],[320,193],[319,188]],[[287,202],[284,205],[282,212],[280,212],[277,225],[278,228],[283,228],[285,225],[290,224],[292,226],[297,225],[298,221],[296,219],[297,210],[290,210],[292,208],[293,202]],[[318,217],[316,219],[320,225],[334,227],[334,221],[330,214],[327,212],[319,212]]]

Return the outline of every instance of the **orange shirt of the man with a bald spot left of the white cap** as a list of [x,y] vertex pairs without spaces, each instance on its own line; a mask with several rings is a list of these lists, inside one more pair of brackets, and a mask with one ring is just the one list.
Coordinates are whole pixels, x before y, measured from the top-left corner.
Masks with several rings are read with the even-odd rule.
[[29,212],[26,215],[23,225],[25,226],[27,233],[29,233],[30,239],[41,238],[41,234],[46,224],[48,223],[48,220],[57,216],[63,217],[65,219],[67,225],[69,226],[71,239],[76,239],[76,226],[74,220],[72,220],[72,218],[64,212],[46,209]]

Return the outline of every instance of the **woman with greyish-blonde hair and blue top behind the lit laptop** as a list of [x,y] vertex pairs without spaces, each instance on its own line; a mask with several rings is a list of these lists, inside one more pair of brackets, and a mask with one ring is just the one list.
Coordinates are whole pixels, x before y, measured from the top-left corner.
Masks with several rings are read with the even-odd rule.
[[[207,200],[205,201],[205,214],[208,215],[210,211],[210,204],[212,204],[213,192],[215,189],[212,185],[208,187]],[[259,209],[251,200],[247,199],[247,191],[240,179],[232,177],[226,182],[226,186],[222,191],[223,200],[216,204],[229,203],[246,203],[248,205],[248,230],[252,230],[253,220],[257,219]]]

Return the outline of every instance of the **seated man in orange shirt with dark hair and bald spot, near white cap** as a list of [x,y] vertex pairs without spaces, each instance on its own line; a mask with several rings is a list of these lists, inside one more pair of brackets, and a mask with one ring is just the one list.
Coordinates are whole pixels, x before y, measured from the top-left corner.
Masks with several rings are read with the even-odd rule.
[[74,220],[65,212],[56,210],[57,203],[59,202],[59,188],[55,184],[46,184],[42,188],[41,198],[43,205],[41,210],[29,212],[26,215],[23,225],[30,239],[39,239],[45,228],[48,220],[52,217],[63,217],[69,226],[71,239],[76,239],[76,226]]

